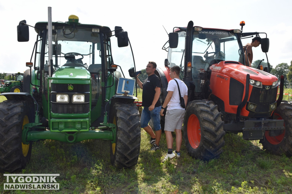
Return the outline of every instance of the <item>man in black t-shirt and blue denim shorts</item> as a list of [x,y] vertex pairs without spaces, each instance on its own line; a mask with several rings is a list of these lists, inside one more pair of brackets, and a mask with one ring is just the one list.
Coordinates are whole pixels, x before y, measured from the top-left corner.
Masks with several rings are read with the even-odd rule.
[[[160,110],[161,102],[160,96],[160,79],[154,74],[156,70],[156,63],[149,61],[146,66],[147,79],[142,83],[137,76],[137,84],[143,89],[142,91],[142,106],[144,107],[141,114],[141,127],[151,136],[150,144],[153,144],[151,150],[159,149],[159,141],[161,138],[161,127],[160,127]],[[155,134],[148,124],[150,119],[153,122]]]

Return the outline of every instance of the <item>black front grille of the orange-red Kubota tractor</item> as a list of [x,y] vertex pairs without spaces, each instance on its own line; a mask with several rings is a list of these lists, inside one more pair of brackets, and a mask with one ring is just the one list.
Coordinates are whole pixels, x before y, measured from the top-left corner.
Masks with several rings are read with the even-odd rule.
[[277,87],[263,85],[263,88],[253,87],[248,101],[257,105],[256,113],[267,113],[270,110],[270,105],[276,102],[276,99]]

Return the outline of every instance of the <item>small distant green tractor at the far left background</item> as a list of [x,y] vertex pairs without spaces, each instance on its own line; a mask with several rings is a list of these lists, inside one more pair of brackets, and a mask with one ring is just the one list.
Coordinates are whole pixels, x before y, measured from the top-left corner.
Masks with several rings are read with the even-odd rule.
[[4,85],[0,86],[0,93],[4,92],[22,92],[24,73],[12,74],[12,81],[5,81]]

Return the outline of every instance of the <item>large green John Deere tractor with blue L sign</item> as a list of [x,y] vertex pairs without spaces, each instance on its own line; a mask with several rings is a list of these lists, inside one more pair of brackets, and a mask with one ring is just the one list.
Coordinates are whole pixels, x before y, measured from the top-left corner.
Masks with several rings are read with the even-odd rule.
[[[75,15],[52,23],[48,12],[49,22],[34,26],[37,39],[34,57],[26,63],[23,92],[1,94],[7,100],[0,103],[0,172],[25,168],[33,141],[45,139],[108,140],[112,165],[136,165],[141,128],[135,81],[125,85],[111,45],[111,38],[117,38],[118,47],[127,47],[128,33],[119,26],[111,31],[81,24]],[[19,42],[29,40],[28,28],[25,20],[19,23]]]

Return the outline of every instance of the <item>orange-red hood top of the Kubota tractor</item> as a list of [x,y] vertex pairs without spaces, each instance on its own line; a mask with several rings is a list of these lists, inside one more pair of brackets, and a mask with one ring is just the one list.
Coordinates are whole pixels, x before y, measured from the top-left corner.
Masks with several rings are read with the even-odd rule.
[[226,75],[226,78],[232,77],[236,80],[244,80],[246,75],[250,75],[250,79],[260,81],[263,85],[271,85],[278,78],[270,73],[242,65],[237,61],[221,61],[220,63],[210,66],[210,70],[215,73]]

